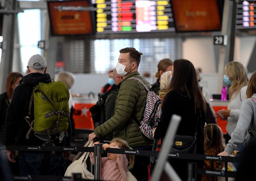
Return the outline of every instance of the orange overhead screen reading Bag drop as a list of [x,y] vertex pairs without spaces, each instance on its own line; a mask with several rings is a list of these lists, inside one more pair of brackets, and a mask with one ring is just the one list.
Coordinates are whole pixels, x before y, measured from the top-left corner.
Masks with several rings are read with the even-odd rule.
[[172,0],[176,32],[220,31],[218,0]]

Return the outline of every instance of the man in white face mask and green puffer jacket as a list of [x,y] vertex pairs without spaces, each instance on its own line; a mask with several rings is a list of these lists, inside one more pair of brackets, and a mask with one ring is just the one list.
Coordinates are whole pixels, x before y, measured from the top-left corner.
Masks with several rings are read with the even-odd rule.
[[[152,150],[153,141],[141,133],[135,121],[135,118],[139,121],[143,118],[148,92],[139,81],[129,79],[137,77],[150,89],[148,81],[138,72],[142,53],[132,47],[123,48],[119,52],[116,71],[123,76],[123,80],[117,85],[115,114],[104,124],[96,127],[89,135],[89,140],[113,133],[113,138],[124,139],[133,149]],[[148,180],[148,164],[149,157],[135,156],[135,164],[131,172],[137,180]]]

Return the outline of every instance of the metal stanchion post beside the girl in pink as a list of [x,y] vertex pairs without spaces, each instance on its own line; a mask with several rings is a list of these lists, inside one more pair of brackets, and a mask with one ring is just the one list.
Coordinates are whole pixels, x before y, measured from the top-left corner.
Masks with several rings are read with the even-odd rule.
[[94,180],[100,180],[100,152],[101,144],[94,146]]

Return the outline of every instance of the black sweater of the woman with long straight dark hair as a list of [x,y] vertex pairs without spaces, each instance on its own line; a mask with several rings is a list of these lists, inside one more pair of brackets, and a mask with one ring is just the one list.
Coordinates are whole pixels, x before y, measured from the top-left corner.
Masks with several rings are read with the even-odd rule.
[[[194,102],[189,99],[188,97],[182,96],[177,91],[168,92],[166,97],[164,98],[164,101],[162,102],[162,114],[160,118],[160,122],[157,125],[156,131],[155,131],[155,139],[164,138],[167,128],[169,126],[170,119],[172,117],[172,114],[177,114],[181,116],[180,125],[178,127],[177,133],[179,135],[194,135],[196,132],[196,122],[197,122],[197,116],[198,111],[195,114],[195,106]],[[196,147],[196,153],[197,154],[204,154],[204,112],[201,111],[202,115],[202,122],[198,120],[197,125],[197,147]]]

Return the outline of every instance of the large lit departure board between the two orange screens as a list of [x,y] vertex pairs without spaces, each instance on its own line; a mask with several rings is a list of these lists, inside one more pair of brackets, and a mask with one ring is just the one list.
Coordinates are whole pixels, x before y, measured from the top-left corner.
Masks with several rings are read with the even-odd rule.
[[96,33],[174,32],[169,0],[95,0]]

